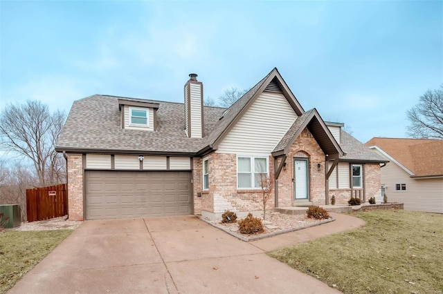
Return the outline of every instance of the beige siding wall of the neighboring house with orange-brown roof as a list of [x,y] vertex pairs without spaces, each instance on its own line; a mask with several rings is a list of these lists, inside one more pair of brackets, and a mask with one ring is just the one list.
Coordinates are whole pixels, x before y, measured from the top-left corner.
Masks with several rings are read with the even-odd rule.
[[[406,184],[406,191],[396,191],[395,184]],[[443,213],[443,178],[414,179],[390,161],[381,168],[381,185],[386,186],[388,202],[404,203],[405,210]]]

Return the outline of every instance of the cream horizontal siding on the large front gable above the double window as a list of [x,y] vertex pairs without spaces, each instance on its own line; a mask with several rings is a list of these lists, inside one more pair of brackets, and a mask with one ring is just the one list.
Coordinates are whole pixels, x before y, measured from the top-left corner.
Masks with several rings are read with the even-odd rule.
[[263,92],[220,142],[216,152],[271,153],[296,118],[282,94]]

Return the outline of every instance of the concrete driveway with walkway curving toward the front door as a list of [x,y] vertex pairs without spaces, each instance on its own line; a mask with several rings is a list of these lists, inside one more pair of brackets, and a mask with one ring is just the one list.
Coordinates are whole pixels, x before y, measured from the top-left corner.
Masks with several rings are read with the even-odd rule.
[[9,293],[339,293],[266,255],[364,224],[332,215],[251,243],[192,216],[87,221]]

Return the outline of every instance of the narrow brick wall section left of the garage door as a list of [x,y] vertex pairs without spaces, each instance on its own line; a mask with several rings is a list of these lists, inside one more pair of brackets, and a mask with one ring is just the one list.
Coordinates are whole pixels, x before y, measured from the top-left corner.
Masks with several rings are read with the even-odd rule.
[[83,220],[83,159],[81,154],[67,154],[68,216]]

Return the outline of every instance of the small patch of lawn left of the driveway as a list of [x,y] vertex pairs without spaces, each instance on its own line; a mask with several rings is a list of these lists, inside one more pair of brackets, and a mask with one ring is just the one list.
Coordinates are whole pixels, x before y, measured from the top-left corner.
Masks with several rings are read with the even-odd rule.
[[0,232],[0,293],[38,264],[72,230]]

